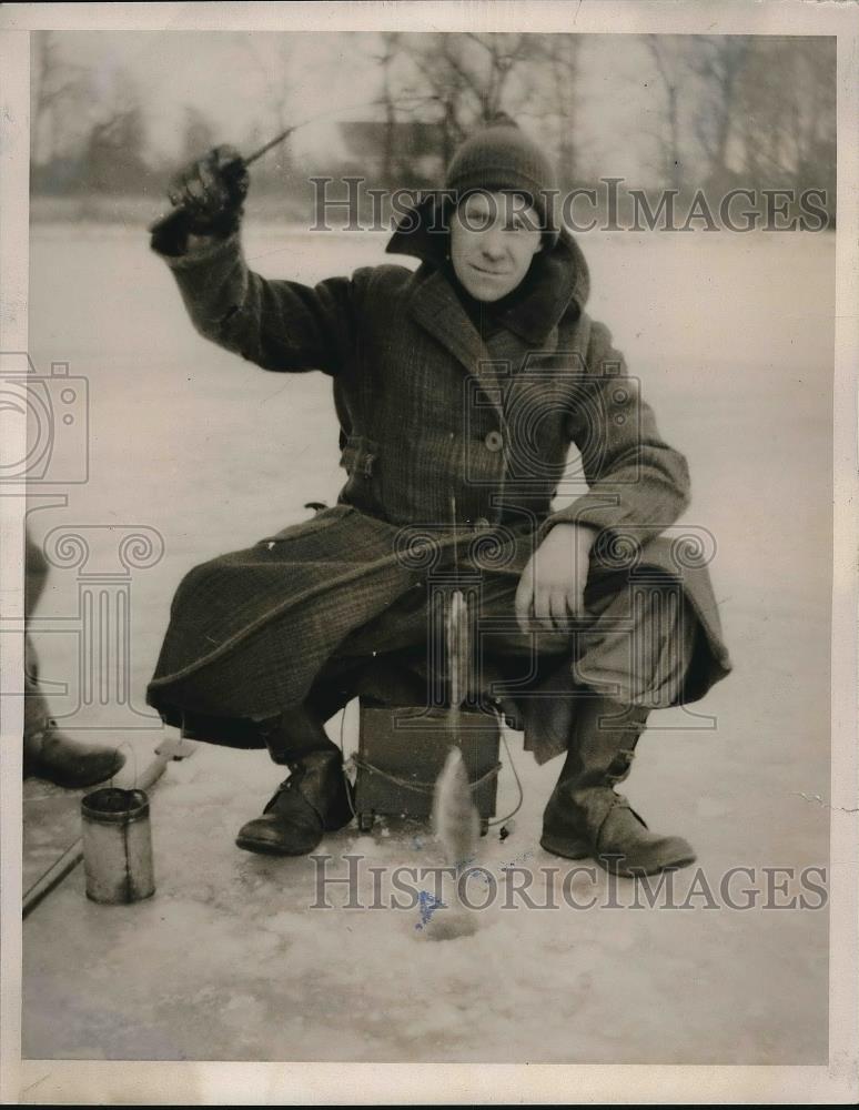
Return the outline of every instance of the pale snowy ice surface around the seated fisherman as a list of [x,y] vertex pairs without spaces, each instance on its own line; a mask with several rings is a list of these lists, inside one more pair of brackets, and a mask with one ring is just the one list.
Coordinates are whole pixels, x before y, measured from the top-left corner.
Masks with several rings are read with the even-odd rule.
[[[303,281],[384,261],[368,234],[251,229],[247,244],[266,274]],[[716,885],[729,867],[800,868],[828,856],[829,811],[800,795],[829,794],[833,245],[812,234],[584,242],[593,313],[689,457],[687,521],[718,541],[713,574],[736,672],[694,707],[703,717],[651,718],[627,791],[651,826],[691,840]],[[67,509],[31,515],[36,537],[61,523],[144,524],[164,537],[163,559],[132,583],[142,708],[185,571],[335,496],[330,383],[265,374],[202,341],[137,229],[34,229],[31,336],[41,372],[69,361],[91,395],[91,481]],[[77,588],[73,571],[54,571],[40,615],[73,614]],[[43,674],[70,683],[52,705],[71,713],[74,642],[61,628],[37,638]],[[131,737],[141,767],[163,736],[145,718],[139,733],[101,723],[107,731],[92,738]],[[350,713],[347,748],[354,725]],[[496,830],[481,841],[478,861],[496,878],[512,862],[566,869],[537,844],[557,765],[538,768],[517,737],[512,745],[525,805],[507,840]],[[674,911],[495,905],[476,915],[473,936],[421,944],[417,909],[309,909],[310,860],[234,847],[280,778],[262,753],[202,746],[152,795],[152,900],[91,905],[79,870],[36,910],[24,931],[27,1056],[826,1059],[826,911],[716,911],[700,899]],[[499,814],[515,796],[506,768]],[[28,806],[31,826],[39,813]],[[337,874],[347,852],[376,866],[441,864],[426,830],[395,823],[330,836],[320,851]],[[678,889],[693,874],[677,876]],[[583,872],[574,889],[584,902],[606,882]],[[619,889],[630,897],[629,884]],[[372,900],[366,875],[362,894]]]

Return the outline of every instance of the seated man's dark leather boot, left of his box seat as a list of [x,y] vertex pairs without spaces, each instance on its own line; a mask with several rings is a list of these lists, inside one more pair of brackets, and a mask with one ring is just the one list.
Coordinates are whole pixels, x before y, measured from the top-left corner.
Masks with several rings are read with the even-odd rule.
[[352,820],[352,790],[340,749],[307,751],[284,760],[285,783],[256,817],[242,826],[236,845],[267,856],[306,856],[325,833]]

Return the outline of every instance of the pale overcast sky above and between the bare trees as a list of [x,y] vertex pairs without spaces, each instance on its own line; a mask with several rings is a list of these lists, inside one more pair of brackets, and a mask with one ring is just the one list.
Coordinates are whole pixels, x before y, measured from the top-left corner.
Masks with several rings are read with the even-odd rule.
[[[165,153],[179,150],[186,104],[218,121],[224,142],[241,140],[254,121],[269,128],[271,82],[286,69],[284,51],[290,120],[324,112],[334,112],[336,120],[372,118],[367,102],[380,90],[371,34],[75,31],[58,32],[58,38],[62,56],[84,65],[105,99],[118,71],[132,78],[146,108],[151,141]],[[657,125],[660,91],[635,37],[587,39],[579,108],[587,162],[599,175],[645,183],[646,133]],[[293,151],[311,162],[330,152],[337,143],[336,120],[303,128],[291,139]],[[521,122],[528,127],[527,119]]]

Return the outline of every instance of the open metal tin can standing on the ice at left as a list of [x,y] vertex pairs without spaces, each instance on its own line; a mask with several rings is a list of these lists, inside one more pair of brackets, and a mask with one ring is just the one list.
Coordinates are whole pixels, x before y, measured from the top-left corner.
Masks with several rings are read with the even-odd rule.
[[155,892],[149,798],[103,787],[81,799],[87,897],[122,905]]

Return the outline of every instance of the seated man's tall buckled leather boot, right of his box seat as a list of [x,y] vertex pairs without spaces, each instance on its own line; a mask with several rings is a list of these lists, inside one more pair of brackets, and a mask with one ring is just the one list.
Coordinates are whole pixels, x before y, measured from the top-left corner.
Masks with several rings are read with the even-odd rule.
[[[543,815],[540,846],[566,859],[596,860],[635,877],[695,862],[679,836],[651,833],[623,795],[613,789],[629,774],[648,710],[605,697],[582,702],[567,758]],[[599,720],[604,719],[602,726]]]

